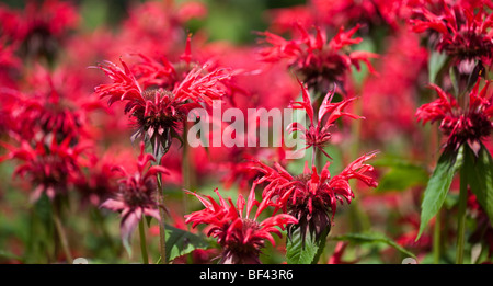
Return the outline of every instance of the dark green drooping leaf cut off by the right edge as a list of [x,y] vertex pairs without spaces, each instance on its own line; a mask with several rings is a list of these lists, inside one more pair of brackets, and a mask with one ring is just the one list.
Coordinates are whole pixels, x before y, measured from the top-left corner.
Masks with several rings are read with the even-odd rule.
[[469,186],[493,224],[493,158],[482,144],[478,158],[469,146],[465,148],[463,168],[468,175]]

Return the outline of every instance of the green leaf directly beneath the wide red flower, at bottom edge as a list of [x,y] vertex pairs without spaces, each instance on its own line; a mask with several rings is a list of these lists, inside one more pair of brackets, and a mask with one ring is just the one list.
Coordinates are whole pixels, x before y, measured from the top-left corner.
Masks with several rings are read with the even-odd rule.
[[[329,229],[328,229],[329,230]],[[316,264],[325,245],[329,231],[320,236],[318,240],[308,231],[305,243],[299,228],[295,229],[286,242],[286,261],[288,264]]]

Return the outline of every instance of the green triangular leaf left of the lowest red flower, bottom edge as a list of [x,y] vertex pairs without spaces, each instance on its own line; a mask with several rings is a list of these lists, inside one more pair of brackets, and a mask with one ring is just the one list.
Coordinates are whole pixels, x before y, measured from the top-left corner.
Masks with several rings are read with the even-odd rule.
[[183,229],[165,225],[167,261],[191,253],[196,249],[207,249],[210,244],[202,237]]

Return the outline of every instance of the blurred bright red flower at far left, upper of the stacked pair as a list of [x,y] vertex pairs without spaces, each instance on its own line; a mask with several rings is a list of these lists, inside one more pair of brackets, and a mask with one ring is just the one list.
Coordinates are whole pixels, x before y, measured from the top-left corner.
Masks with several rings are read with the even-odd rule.
[[89,113],[103,105],[98,98],[83,93],[80,79],[65,69],[50,73],[41,66],[27,73],[25,90],[3,90],[12,101],[11,135],[23,140],[38,131],[53,133],[57,140],[88,136]]

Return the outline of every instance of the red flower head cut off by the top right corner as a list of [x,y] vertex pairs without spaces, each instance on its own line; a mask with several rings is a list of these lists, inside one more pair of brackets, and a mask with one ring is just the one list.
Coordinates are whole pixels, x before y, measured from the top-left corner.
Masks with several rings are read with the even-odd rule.
[[493,14],[491,1],[449,4],[440,1],[439,12],[425,7],[416,9],[416,19],[411,19],[412,31],[432,31],[436,36],[435,48],[450,55],[457,62],[481,60],[491,66],[493,57]]

